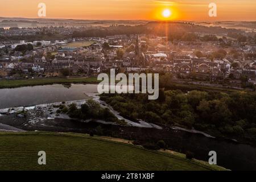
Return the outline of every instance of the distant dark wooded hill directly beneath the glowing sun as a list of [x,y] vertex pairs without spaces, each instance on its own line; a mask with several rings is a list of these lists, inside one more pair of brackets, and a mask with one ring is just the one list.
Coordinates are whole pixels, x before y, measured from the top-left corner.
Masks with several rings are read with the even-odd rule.
[[106,28],[91,28],[86,31],[73,32],[72,37],[104,37],[110,35],[155,34],[158,36],[182,36],[187,32],[205,34],[242,33],[241,30],[222,27],[206,27],[188,22],[148,22],[137,26],[114,26]]

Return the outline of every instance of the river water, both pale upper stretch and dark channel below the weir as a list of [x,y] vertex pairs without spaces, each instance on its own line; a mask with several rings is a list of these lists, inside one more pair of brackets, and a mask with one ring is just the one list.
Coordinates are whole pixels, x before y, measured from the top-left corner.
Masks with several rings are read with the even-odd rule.
[[[53,102],[86,100],[97,94],[97,85],[44,85],[14,89],[0,89],[0,109],[7,107],[31,106]],[[42,113],[41,113],[42,114]],[[40,122],[39,122],[40,123]],[[103,125],[102,123],[80,123],[68,119],[46,119],[39,124],[30,125],[25,118],[15,115],[0,115],[0,127],[15,130],[72,131],[88,133],[101,126],[115,137],[139,140],[164,140],[175,151],[191,151],[196,159],[208,160],[209,151],[217,152],[217,164],[234,170],[256,170],[256,148],[231,140],[205,137],[202,134],[188,133],[175,129],[156,129]]]

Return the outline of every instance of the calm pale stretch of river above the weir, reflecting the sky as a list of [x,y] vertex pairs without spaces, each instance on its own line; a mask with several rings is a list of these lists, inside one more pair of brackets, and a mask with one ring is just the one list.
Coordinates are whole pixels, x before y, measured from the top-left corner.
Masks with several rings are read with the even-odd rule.
[[84,100],[97,93],[97,85],[44,85],[0,89],[0,109],[53,102]]

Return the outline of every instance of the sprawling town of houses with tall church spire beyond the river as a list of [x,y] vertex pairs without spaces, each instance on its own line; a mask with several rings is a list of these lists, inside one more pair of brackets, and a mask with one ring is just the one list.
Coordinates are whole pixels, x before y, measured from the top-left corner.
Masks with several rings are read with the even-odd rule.
[[[76,28],[77,29],[77,28]],[[2,28],[1,36],[72,35],[74,28]],[[82,29],[84,30],[84,29]],[[171,73],[176,81],[255,89],[255,35],[234,38],[185,33],[179,39],[152,34],[108,35],[61,40],[5,40],[0,77],[94,77],[99,73]]]

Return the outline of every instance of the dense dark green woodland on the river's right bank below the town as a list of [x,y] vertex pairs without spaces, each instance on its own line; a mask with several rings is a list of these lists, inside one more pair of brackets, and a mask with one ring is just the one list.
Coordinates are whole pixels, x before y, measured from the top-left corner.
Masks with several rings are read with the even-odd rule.
[[256,140],[255,92],[160,90],[156,101],[146,94],[103,94],[124,117],[162,126],[181,126],[207,133]]

